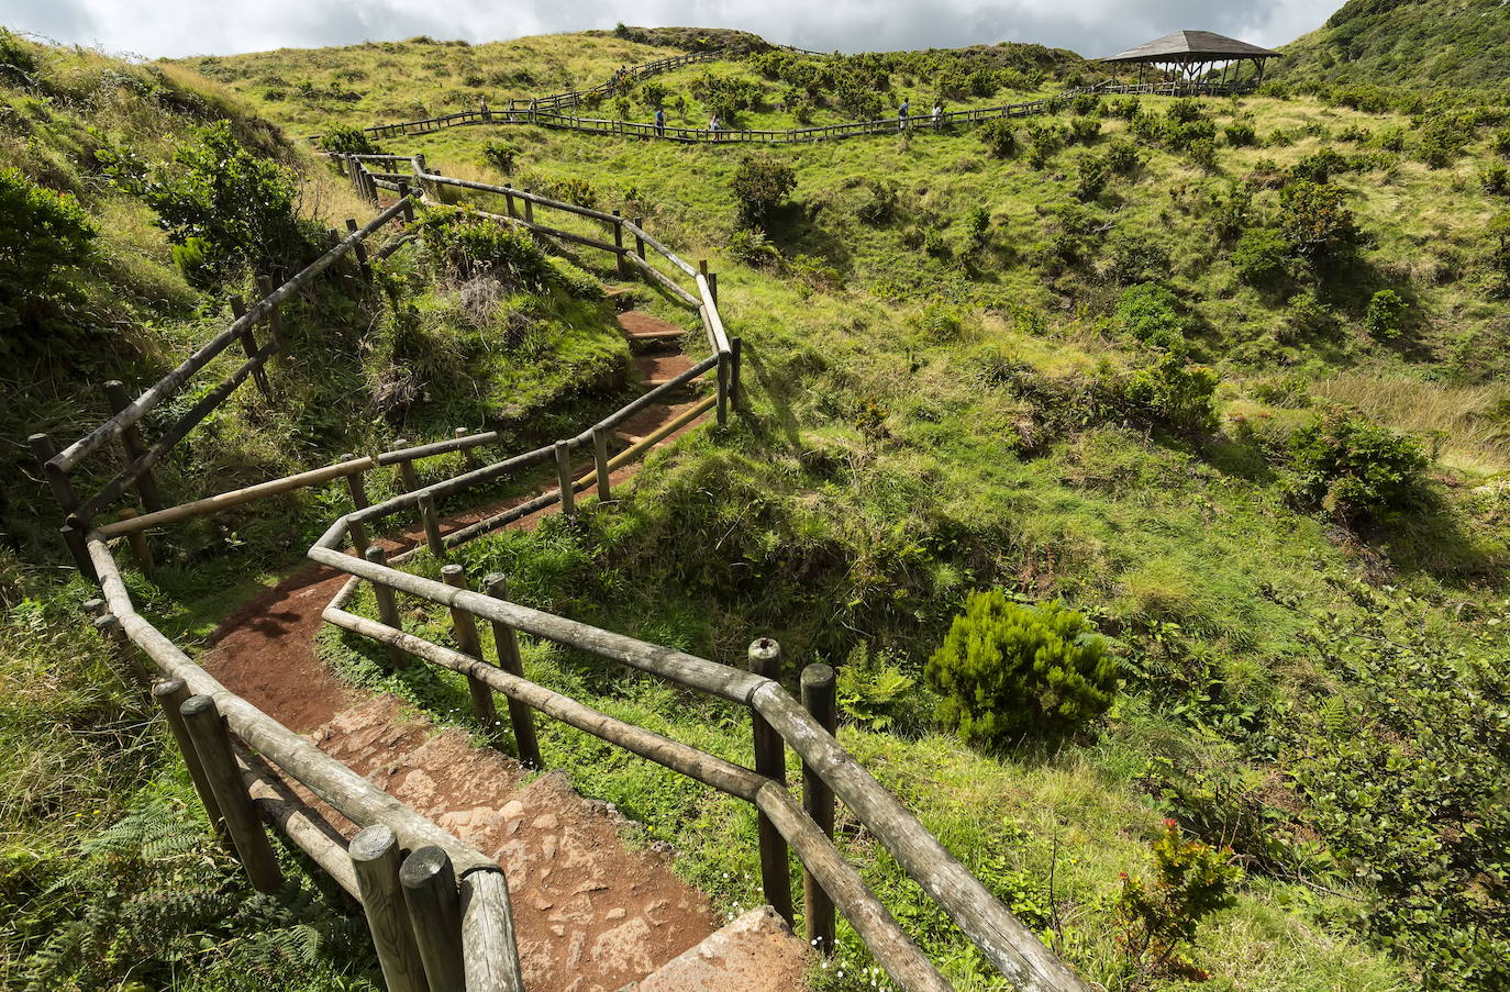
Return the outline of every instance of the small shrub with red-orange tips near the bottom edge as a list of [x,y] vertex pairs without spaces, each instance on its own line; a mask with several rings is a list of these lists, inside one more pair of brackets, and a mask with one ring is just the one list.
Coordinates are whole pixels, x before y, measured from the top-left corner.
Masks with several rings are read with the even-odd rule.
[[1200,921],[1237,901],[1232,886],[1241,882],[1243,870],[1232,862],[1231,850],[1185,840],[1173,820],[1164,820],[1164,832],[1149,850],[1151,880],[1122,873],[1122,892],[1114,904],[1122,926],[1117,942],[1142,981],[1157,977],[1203,981],[1208,975],[1185,960],[1185,948],[1194,944]]

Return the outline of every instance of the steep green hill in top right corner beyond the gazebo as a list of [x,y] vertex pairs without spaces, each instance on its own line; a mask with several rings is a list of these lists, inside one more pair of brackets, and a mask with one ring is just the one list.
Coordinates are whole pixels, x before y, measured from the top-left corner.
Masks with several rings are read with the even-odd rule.
[[1284,53],[1287,82],[1492,91],[1510,79],[1510,18],[1499,0],[1348,0]]

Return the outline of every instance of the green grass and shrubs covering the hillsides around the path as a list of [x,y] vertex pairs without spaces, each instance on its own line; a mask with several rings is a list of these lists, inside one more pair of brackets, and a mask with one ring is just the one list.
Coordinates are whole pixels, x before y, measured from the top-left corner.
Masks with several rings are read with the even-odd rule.
[[[1344,14],[1392,6],[1415,5]],[[593,85],[666,53],[654,47],[666,38],[636,32],[195,66],[308,133]],[[293,181],[302,193],[288,216],[304,237],[329,225],[311,214],[338,196],[332,175],[275,128],[225,94],[196,97],[222,101],[202,113],[162,95],[216,94],[207,83],[8,44],[30,66],[6,77],[8,119],[36,140],[0,143],[0,166],[17,169],[5,195],[56,216],[60,243],[89,245],[54,252],[62,281],[33,282],[51,302],[12,307],[21,319],[69,334],[124,328],[106,350],[137,380],[216,326],[223,293],[245,288],[257,260],[211,251],[223,267],[190,281],[198,269],[175,263],[169,239],[205,236],[148,190],[193,175],[193,149],[222,140],[220,116],[237,148],[272,163],[248,162],[246,181]],[[107,71],[137,82],[104,88]],[[1036,47],[817,59],[750,44],[746,57],[637,83],[607,110],[646,119],[660,103],[673,121],[719,109],[791,127],[877,103],[889,116],[901,97],[917,115],[935,98],[1052,94],[1080,72],[1075,57]],[[974,133],[769,157],[522,127],[394,146],[453,175],[507,175],[646,216],[687,257],[714,260],[744,337],[747,415],[651,459],[613,506],[589,500],[575,519],[468,545],[468,572],[504,571],[522,602],[722,661],[772,634],[788,678],[834,663],[846,746],[1108,987],[1502,987],[1510,225],[1486,230],[1484,217],[1507,208],[1510,115],[1493,100],[1356,79],[1302,89],[1083,97]],[[121,100],[125,112],[110,110]],[[91,125],[103,137],[85,145]],[[104,178],[85,181],[97,168]],[[465,204],[429,211],[421,231],[378,291],[308,303],[297,322],[308,359],[281,373],[287,408],[252,399],[230,411],[175,465],[175,494],[399,430],[436,439],[489,420],[545,436],[575,388],[613,394],[622,346],[580,266]],[[119,272],[121,260],[134,269]],[[91,305],[121,320],[69,323]],[[65,353],[35,368],[56,385],[14,414],[8,438],[38,421],[68,435],[98,420],[94,377]],[[35,483],[17,479],[11,492],[14,519],[42,516]],[[174,568],[156,583],[133,575],[134,590],[174,633],[202,633],[246,589],[207,598],[204,577],[282,563],[276,548],[299,547],[322,498],[178,538]],[[44,560],[41,528],[29,527],[24,560]],[[156,741],[68,732],[140,704],[124,687],[98,692],[86,648],[68,652],[77,667],[62,676],[45,663],[54,645],[83,640],[77,583],[59,587],[14,553],[0,568],[8,682],[21,687],[18,713],[44,714],[14,723],[8,753],[45,755],[5,776],[0,794],[8,849],[36,852],[15,862],[24,871],[6,862],[0,895],[29,909],[5,942],[27,974],[51,975],[50,960],[74,959],[45,950],[45,930],[77,935],[74,947],[107,927],[145,941],[134,917],[109,907],[83,913],[83,930],[63,927],[79,915],[41,898],[62,859],[116,858],[113,844],[153,823],[140,811],[181,808],[184,790]],[[445,636],[444,612],[412,619]],[[418,666],[385,675],[370,645],[334,633],[322,643],[353,681],[438,720],[465,710],[461,679]],[[544,643],[524,651],[544,684],[749,759],[747,726],[725,707]],[[27,704],[57,678],[65,708]],[[592,738],[542,731],[548,764],[619,803],[646,838],[676,844],[680,870],[726,909],[755,898],[747,809]],[[91,775],[66,775],[80,767]],[[104,812],[74,815],[86,808]],[[950,977],[1003,987],[871,838],[841,826],[847,853]],[[146,861],[189,850],[174,843]],[[237,894],[225,865],[142,861],[110,864]],[[340,926],[322,907],[245,912],[272,913],[270,932]],[[180,953],[159,945],[163,960]],[[278,947],[207,953],[195,980],[236,987],[225,975],[237,968],[278,974],[264,951],[297,960],[308,945]],[[314,960],[320,975],[370,969],[323,951]],[[867,966],[844,933],[820,981],[870,987]]]

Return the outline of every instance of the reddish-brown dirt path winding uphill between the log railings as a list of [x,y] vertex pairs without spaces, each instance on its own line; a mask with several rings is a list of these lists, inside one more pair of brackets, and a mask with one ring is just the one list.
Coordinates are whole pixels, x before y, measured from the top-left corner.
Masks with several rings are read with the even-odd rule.
[[[654,319],[634,314],[624,322],[625,331],[655,329],[646,322]],[[673,335],[661,340],[673,344]],[[672,358],[680,356],[642,361],[645,377],[675,367]],[[649,433],[681,409],[676,403],[652,406],[636,417],[633,429]],[[615,482],[627,480],[634,468],[615,473]],[[527,498],[458,513],[442,530]],[[512,527],[533,528],[548,512],[554,507]],[[396,551],[418,539],[411,531],[384,544]],[[346,578],[317,565],[294,571],[220,625],[205,667],[231,692],[497,858],[509,876],[530,992],[615,992],[717,929],[707,898],[670,871],[666,855],[630,850],[618,814],[577,796],[559,772],[525,784],[524,769],[512,758],[473,747],[462,731],[436,728],[394,696],[364,693],[337,678],[319,658],[314,637]],[[347,835],[355,832],[331,815]]]

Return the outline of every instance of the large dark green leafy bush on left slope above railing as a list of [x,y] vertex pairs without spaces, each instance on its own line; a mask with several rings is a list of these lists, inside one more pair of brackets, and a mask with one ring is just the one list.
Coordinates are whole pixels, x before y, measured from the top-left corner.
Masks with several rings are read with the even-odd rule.
[[140,187],[168,240],[204,242],[204,269],[217,279],[239,267],[258,272],[299,267],[307,245],[294,220],[294,178],[284,166],[243,146],[219,121],[174,156]]

